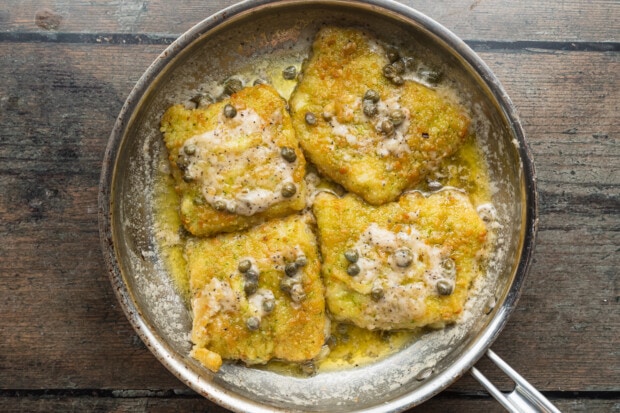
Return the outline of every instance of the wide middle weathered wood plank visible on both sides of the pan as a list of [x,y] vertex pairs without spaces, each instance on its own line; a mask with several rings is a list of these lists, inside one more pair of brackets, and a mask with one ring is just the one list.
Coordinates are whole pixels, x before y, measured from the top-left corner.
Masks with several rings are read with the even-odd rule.
[[[109,132],[162,48],[0,44],[2,389],[183,388],[118,308],[97,234]],[[542,390],[617,391],[618,54],[482,56],[519,107],[542,195],[536,262],[493,348]]]

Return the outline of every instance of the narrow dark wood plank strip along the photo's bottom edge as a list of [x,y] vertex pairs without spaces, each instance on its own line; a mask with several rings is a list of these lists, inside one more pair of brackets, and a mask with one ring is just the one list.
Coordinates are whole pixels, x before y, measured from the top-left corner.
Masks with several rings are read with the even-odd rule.
[[[565,412],[620,412],[620,402],[613,399],[551,399]],[[0,397],[0,410],[5,413],[18,412],[92,412],[92,413],[168,413],[191,412],[227,413],[228,410],[216,406],[208,400],[197,397],[60,397],[60,396],[25,396]],[[415,413],[461,413],[488,412],[502,413],[505,410],[493,399],[474,397],[465,398],[456,395],[438,395],[416,408]]]

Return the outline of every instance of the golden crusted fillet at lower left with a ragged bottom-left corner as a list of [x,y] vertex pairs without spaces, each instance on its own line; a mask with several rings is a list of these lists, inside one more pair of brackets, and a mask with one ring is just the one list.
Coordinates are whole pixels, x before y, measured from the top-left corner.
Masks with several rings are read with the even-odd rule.
[[[257,364],[272,359],[303,362],[319,353],[327,322],[324,287],[316,239],[307,220],[293,215],[244,232],[188,241],[192,354],[207,367],[217,370],[217,357]],[[286,264],[300,256],[305,257],[304,265],[294,276],[287,275]],[[252,294],[245,290],[247,272],[239,269],[243,260],[249,260],[259,274]],[[301,299],[281,287],[289,280],[303,289],[297,297]],[[273,301],[271,311],[264,307],[268,300]],[[252,317],[258,326],[249,328]]]

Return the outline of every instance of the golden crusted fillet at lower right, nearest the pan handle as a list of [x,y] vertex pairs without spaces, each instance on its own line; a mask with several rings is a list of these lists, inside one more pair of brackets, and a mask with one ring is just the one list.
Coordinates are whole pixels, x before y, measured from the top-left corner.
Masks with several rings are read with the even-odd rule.
[[[487,256],[486,226],[464,194],[413,192],[374,207],[355,195],[323,193],[313,209],[326,301],[336,320],[371,330],[410,329],[445,325],[462,312]],[[401,267],[397,251],[405,249],[411,262]],[[359,255],[358,274],[347,272],[347,251]],[[438,293],[442,280],[450,294]]]

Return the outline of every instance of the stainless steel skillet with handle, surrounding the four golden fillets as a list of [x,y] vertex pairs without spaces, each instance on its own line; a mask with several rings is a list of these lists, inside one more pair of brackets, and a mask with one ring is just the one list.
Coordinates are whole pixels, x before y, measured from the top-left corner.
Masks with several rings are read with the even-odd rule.
[[[188,355],[190,314],[156,242],[154,188],[165,168],[159,119],[171,104],[232,74],[301,62],[324,24],[364,28],[444,71],[445,81],[471,105],[488,155],[501,243],[462,322],[426,334],[387,359],[310,378],[235,364],[212,374]],[[508,396],[472,369],[485,353],[502,365],[489,347],[515,308],[529,267],[537,227],[535,173],[515,109],[499,81],[464,42],[415,10],[378,0],[246,1],[202,21],[159,56],[125,102],[106,150],[99,207],[104,257],[128,319],[173,374],[228,409],[402,411],[472,371],[513,411],[556,411],[509,368],[517,387]]]

